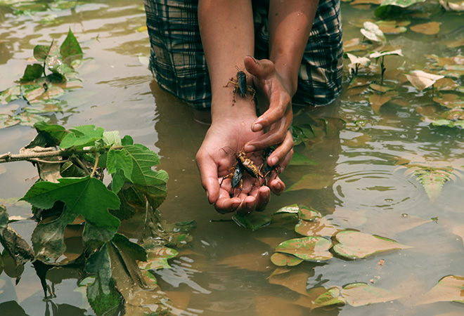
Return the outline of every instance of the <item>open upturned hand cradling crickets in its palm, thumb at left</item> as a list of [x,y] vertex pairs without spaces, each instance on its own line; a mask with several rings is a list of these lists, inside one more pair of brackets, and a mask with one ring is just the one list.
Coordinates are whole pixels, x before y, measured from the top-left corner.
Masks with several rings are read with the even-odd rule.
[[[264,134],[263,131],[251,131],[250,125],[256,118],[256,115],[238,115],[227,117],[224,121],[213,121],[195,157],[208,201],[214,204],[219,213],[237,211],[247,214],[254,210],[263,211],[269,203],[270,190],[281,194],[285,189],[276,174],[271,176],[267,185],[263,185],[262,178],[256,180],[244,174],[242,191],[238,187],[233,189],[230,179],[223,180],[224,176],[233,171],[236,152],[243,150],[248,141]],[[260,154],[261,152],[253,152],[248,157],[260,166]]]

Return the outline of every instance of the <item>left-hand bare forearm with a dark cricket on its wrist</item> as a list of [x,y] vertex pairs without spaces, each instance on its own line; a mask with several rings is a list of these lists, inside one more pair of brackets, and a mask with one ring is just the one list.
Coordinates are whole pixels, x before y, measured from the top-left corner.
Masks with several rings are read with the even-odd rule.
[[198,22],[211,80],[213,123],[226,116],[238,117],[238,110],[254,112],[254,105],[250,100],[244,103],[236,98],[240,106],[233,107],[233,85],[229,84],[228,88],[224,88],[231,77],[236,77],[236,66],[243,70],[243,59],[254,53],[250,0],[200,0]]

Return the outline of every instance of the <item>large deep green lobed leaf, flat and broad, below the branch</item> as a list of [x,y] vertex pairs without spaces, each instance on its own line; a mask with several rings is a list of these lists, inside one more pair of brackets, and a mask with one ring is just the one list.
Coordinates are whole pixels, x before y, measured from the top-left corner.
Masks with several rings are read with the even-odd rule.
[[118,209],[120,199],[96,178],[61,178],[59,183],[38,182],[32,185],[22,200],[41,209],[50,209],[56,201],[64,202],[68,211],[116,232],[120,220],[108,209]]

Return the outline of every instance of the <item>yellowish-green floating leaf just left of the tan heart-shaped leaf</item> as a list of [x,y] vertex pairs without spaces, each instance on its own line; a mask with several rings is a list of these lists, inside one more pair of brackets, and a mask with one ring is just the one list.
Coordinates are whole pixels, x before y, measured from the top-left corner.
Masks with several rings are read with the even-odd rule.
[[276,252],[291,254],[304,261],[326,261],[332,258],[328,251],[332,243],[323,237],[304,237],[290,239],[281,242],[276,247]]

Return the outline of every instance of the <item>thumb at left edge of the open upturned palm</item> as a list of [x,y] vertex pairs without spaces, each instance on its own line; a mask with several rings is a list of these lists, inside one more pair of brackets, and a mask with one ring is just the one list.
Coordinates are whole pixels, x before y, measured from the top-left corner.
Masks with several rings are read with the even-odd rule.
[[206,190],[208,202],[213,204],[219,199],[219,181],[217,180],[217,164],[207,155],[198,152],[195,157],[200,171],[201,185]]

